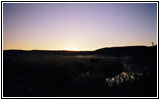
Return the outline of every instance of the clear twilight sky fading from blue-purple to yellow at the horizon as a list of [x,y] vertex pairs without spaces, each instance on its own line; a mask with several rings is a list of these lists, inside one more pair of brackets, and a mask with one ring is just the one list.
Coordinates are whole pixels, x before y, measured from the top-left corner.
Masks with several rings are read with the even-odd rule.
[[3,49],[96,50],[157,43],[156,3],[3,3]]

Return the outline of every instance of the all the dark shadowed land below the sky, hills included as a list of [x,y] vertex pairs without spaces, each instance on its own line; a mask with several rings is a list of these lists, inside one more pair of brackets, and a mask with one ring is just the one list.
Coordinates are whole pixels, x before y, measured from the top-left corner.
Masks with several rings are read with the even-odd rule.
[[4,97],[156,97],[157,46],[3,51]]

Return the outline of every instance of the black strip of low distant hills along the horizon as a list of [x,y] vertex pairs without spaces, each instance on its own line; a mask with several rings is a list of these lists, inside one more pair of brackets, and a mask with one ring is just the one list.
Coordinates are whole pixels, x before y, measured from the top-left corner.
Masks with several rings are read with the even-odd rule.
[[157,50],[157,45],[154,47],[147,46],[126,46],[126,47],[110,47],[101,48],[95,51],[66,51],[66,50],[3,50],[5,53],[31,53],[31,54],[52,54],[52,55],[90,55],[90,54],[100,54],[100,55],[110,55],[110,56],[124,56],[124,55],[148,55],[151,52]]

